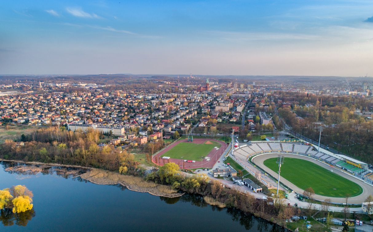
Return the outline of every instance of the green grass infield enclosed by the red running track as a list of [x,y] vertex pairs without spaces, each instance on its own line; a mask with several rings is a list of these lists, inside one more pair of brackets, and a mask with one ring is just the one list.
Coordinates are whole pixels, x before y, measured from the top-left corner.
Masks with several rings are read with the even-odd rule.
[[200,161],[201,156],[206,157],[214,147],[220,148],[221,144],[210,141],[212,144],[197,144],[191,142],[181,142],[164,153],[161,157],[168,156],[180,160]]

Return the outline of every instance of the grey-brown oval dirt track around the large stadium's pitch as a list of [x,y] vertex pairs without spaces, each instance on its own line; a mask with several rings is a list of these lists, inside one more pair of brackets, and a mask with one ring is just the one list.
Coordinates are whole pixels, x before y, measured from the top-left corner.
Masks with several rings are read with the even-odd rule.
[[[263,164],[264,160],[267,160],[269,158],[275,158],[277,157],[279,154],[264,154],[264,155],[259,155],[257,157],[254,157],[252,159],[252,162],[255,163],[257,166],[259,166],[260,168],[262,168],[263,170],[265,170],[267,173],[269,173],[270,175],[274,176],[277,178],[278,176],[278,173],[277,172],[274,172],[272,171],[270,168],[268,168],[267,166],[265,166]],[[307,161],[310,161],[314,164],[317,164],[321,167],[324,167],[328,170],[332,169],[328,164],[325,164],[325,163],[322,163],[322,162],[319,162],[319,161],[316,161],[312,158],[309,158],[309,157],[306,157],[304,155],[291,155],[291,154],[281,154],[283,155],[284,157],[291,157],[291,158],[299,158],[299,159],[303,159],[303,160],[307,160]],[[355,178],[355,177],[352,177],[342,171],[339,171],[335,168],[333,168],[333,172],[348,179],[348,180],[351,180],[355,183],[357,183],[358,185],[361,186],[361,188],[363,188],[363,193],[356,196],[356,197],[351,197],[348,199],[348,203],[352,203],[352,204],[361,204],[362,202],[364,202],[364,200],[370,195],[370,194],[373,194],[373,186],[367,184],[367,183],[364,183],[363,181]],[[295,192],[298,192],[298,193],[303,193],[303,189],[300,189],[298,188],[297,186],[293,185],[291,182],[289,182],[288,180],[286,180],[285,178],[281,177],[281,180],[280,180],[283,184],[285,184],[286,186],[289,186],[289,188],[293,189]],[[314,195],[314,198],[319,200],[319,201],[323,201],[327,198],[331,199],[332,202],[344,202],[345,201],[345,198],[339,198],[339,197],[324,197],[324,196],[321,196],[321,195]]]

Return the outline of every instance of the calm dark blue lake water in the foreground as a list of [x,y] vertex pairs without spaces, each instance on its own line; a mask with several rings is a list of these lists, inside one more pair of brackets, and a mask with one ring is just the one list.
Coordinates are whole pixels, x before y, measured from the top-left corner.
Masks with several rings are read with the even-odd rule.
[[66,179],[53,168],[24,175],[6,172],[9,163],[1,165],[0,189],[26,185],[34,193],[34,211],[17,218],[3,212],[0,231],[282,231],[241,211],[207,205],[195,195],[156,197]]

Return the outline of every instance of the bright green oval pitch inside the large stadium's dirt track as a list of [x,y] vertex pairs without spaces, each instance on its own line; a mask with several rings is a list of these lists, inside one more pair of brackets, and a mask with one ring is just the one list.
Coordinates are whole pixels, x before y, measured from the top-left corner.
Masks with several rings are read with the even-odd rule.
[[[264,160],[264,165],[277,173],[277,158]],[[281,176],[301,189],[313,188],[315,194],[326,197],[351,197],[360,195],[363,189],[351,180],[347,180],[326,168],[310,161],[297,158],[285,158],[281,166]]]

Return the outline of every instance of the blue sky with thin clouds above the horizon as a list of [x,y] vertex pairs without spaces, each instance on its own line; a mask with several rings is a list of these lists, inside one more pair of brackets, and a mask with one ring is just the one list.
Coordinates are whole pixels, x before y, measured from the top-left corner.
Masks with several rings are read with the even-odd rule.
[[12,0],[0,74],[373,76],[372,0]]

